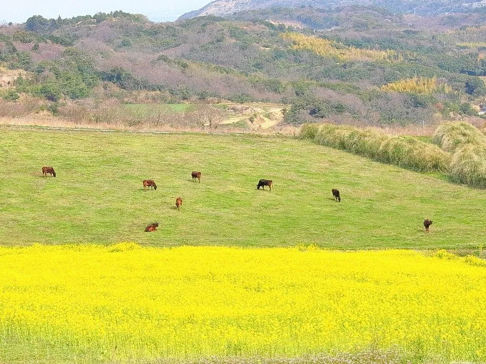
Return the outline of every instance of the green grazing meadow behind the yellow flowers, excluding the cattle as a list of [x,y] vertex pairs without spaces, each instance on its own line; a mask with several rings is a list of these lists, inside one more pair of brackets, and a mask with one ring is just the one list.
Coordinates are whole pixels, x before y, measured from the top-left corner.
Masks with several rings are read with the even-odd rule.
[[[0,138],[3,245],[435,249],[474,248],[486,237],[486,191],[311,142],[10,128]],[[43,165],[57,177],[42,177]],[[192,170],[203,172],[200,184]],[[143,191],[145,178],[156,191]],[[260,178],[273,179],[271,192],[256,190]],[[428,235],[425,217],[434,221]],[[145,233],[155,221],[158,231]]]

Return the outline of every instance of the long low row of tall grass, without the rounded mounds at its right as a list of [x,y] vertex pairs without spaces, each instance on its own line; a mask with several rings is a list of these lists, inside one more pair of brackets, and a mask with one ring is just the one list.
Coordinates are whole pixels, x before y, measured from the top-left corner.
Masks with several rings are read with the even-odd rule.
[[304,125],[302,139],[420,171],[447,171],[450,154],[412,136],[393,136],[376,129],[334,124]]

